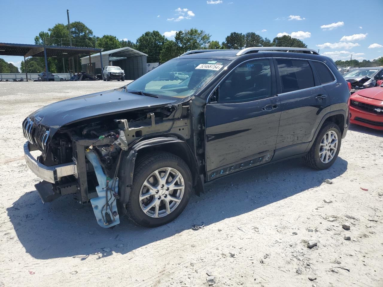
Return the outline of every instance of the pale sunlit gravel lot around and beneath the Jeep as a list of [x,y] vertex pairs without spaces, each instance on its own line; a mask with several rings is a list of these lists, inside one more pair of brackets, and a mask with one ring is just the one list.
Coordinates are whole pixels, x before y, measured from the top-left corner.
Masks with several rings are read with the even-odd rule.
[[43,205],[23,119],[121,85],[0,83],[0,287],[383,286],[383,132],[367,128],[350,127],[328,170],[298,159],[218,179],[158,228],[100,228],[71,196]]

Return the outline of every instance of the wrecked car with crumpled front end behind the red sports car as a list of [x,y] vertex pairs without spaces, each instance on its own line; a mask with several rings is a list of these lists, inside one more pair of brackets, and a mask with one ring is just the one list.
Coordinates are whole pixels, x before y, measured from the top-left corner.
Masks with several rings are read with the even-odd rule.
[[383,80],[383,67],[355,68],[343,75],[351,83],[351,94],[365,88],[376,86],[377,80]]

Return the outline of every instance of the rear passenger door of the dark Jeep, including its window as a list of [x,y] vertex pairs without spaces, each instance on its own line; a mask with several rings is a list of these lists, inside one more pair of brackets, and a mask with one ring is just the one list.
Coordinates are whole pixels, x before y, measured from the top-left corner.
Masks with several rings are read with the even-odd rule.
[[311,60],[275,58],[274,63],[282,112],[278,160],[305,152],[322,117],[330,111],[331,101]]

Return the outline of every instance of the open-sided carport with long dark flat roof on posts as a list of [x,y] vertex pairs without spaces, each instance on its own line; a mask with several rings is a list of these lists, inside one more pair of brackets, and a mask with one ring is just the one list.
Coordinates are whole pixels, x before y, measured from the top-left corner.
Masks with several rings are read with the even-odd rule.
[[[0,55],[9,56],[24,56],[24,63],[26,57],[44,57],[45,58],[45,71],[48,71],[48,57],[61,57],[73,58],[77,55],[99,52],[101,66],[101,51],[99,48],[86,48],[86,47],[68,47],[68,46],[46,46],[46,45],[29,45],[29,44],[13,44],[13,43],[0,43]],[[26,81],[28,82],[28,73],[25,70]]]

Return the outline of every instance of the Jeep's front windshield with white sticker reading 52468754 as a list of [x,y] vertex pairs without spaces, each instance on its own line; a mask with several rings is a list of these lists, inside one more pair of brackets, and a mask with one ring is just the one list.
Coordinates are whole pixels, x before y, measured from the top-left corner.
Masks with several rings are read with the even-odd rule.
[[185,98],[201,90],[229,60],[173,59],[127,86],[128,91]]

